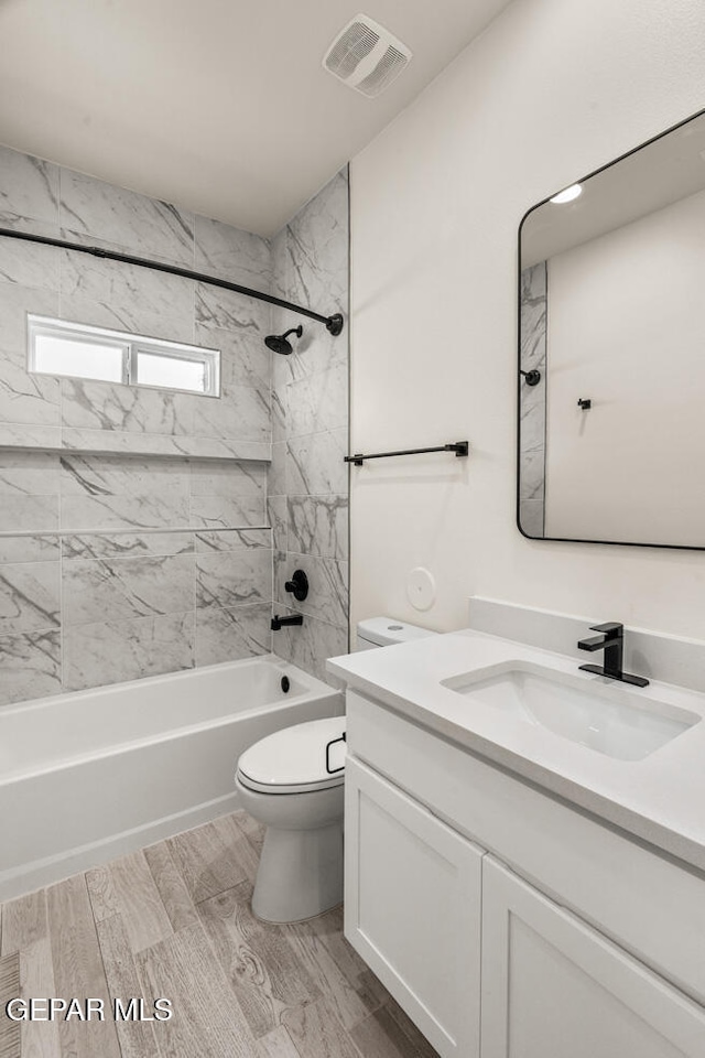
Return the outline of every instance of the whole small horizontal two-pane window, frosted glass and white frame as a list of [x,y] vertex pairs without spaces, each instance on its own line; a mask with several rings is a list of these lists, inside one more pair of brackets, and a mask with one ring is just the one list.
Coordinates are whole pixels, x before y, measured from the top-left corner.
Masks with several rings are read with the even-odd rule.
[[220,353],[196,345],[28,315],[29,370],[149,386],[204,397],[220,392]]

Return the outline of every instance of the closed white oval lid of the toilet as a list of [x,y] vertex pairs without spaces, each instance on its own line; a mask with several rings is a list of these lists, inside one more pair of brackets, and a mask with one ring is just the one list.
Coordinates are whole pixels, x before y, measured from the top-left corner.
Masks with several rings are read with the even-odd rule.
[[261,738],[246,749],[238,760],[238,776],[251,789],[276,788],[279,792],[295,792],[306,789],[326,789],[343,782],[344,771],[330,774],[328,766],[345,765],[345,742],[326,746],[332,739],[340,739],[345,733],[345,716],[312,720],[295,724]]

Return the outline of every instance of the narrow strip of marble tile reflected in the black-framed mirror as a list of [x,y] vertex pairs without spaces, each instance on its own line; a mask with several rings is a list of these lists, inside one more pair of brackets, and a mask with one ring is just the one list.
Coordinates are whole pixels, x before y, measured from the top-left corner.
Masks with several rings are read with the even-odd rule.
[[531,537],[544,535],[546,451],[546,262],[521,273],[521,366],[541,371],[536,386],[521,386],[519,517]]

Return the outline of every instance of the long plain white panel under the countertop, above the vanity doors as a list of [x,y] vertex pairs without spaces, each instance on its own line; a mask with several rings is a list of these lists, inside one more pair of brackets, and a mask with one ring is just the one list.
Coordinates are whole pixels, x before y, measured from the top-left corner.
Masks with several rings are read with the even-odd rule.
[[354,691],[347,716],[352,756],[705,1003],[705,879]]

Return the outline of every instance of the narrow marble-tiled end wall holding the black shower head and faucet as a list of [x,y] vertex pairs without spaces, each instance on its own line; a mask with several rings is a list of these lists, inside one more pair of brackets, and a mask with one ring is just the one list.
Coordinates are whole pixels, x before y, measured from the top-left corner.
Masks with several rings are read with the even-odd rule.
[[[273,291],[317,312],[341,312],[333,337],[274,310],[272,328],[303,325],[291,356],[273,354],[272,463],[269,517],[274,547],[274,606],[302,613],[304,624],[274,633],[281,657],[330,681],[328,657],[348,650],[348,180],[338,175],[272,242]],[[303,569],[310,594],[297,603],[284,590]]]

